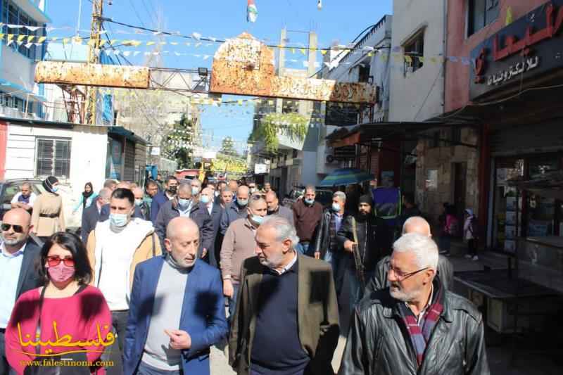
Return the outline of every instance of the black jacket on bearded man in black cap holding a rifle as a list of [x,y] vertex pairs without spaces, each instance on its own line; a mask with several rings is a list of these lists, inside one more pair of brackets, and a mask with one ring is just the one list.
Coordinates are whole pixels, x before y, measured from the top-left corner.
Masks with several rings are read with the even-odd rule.
[[[391,253],[393,234],[381,217],[369,216],[368,220],[358,221],[358,215],[348,215],[337,233],[341,246],[346,240],[354,241],[352,231],[352,218],[355,217],[358,233],[359,250],[364,260],[365,272],[372,272],[377,262],[385,255]],[[348,267],[354,267],[352,253],[346,252]]]

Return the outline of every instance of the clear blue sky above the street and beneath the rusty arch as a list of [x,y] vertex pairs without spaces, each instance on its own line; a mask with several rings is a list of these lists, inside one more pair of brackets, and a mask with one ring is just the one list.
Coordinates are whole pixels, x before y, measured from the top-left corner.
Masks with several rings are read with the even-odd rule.
[[[246,0],[113,0],[112,5],[104,1],[104,17],[121,23],[145,26],[150,29],[191,35],[194,32],[203,37],[223,39],[236,37],[241,32],[250,32],[254,37],[269,44],[279,43],[281,28],[288,30],[289,44],[305,46],[308,31],[318,35],[320,46],[329,46],[334,42],[347,44],[365,27],[377,23],[385,14],[391,14],[392,0],[323,0],[322,10],[317,10],[317,0],[255,0],[258,7],[256,23],[246,22]],[[68,27],[66,30],[53,30],[51,37],[69,37],[75,34],[80,0],[47,0],[47,13],[53,20],[52,27]],[[80,34],[89,34],[91,2],[82,0]],[[133,34],[134,29],[106,23],[110,39],[138,39],[143,41],[178,42],[167,44],[163,51],[163,65],[167,68],[210,68],[213,53],[218,44],[203,42],[195,46],[194,41],[186,46],[188,39],[164,37],[146,34]],[[295,30],[291,31],[291,30]],[[139,46],[129,51],[141,51],[137,56],[128,57],[134,64],[144,62],[144,51],[151,51],[154,46]],[[122,49],[127,51],[127,49]],[[176,56],[180,54],[181,56]],[[193,55],[199,55],[195,57]],[[204,56],[211,56],[204,59]],[[320,53],[317,61],[321,60]],[[289,67],[303,68],[301,60],[305,56],[297,50],[295,56],[287,53],[287,59],[298,60],[288,63]],[[301,66],[300,66],[301,65]],[[224,97],[224,100],[236,98]],[[252,129],[253,108],[248,106],[228,108],[204,107],[201,120],[205,132],[204,143],[220,146],[224,136],[233,136],[243,141]],[[212,138],[213,132],[213,138]],[[240,148],[240,147],[237,147]]]

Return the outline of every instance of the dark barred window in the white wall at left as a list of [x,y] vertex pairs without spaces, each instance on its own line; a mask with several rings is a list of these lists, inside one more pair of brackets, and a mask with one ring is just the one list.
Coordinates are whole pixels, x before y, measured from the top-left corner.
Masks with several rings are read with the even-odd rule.
[[70,140],[37,139],[37,176],[68,178],[70,174]]

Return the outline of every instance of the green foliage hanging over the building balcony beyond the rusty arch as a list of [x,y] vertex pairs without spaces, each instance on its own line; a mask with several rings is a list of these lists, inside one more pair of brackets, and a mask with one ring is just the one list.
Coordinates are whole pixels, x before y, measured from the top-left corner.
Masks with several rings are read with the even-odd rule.
[[279,134],[289,136],[292,141],[303,141],[307,136],[309,120],[298,113],[268,113],[259,122],[249,141],[264,141],[266,151],[277,152]]

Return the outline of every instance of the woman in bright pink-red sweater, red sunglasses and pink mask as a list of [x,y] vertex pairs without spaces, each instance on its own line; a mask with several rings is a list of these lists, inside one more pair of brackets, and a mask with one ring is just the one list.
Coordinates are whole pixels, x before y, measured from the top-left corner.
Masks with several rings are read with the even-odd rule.
[[91,267],[82,241],[74,234],[53,234],[42,248],[39,267],[45,285],[18,298],[6,327],[10,366],[23,374],[25,367],[33,366],[28,361],[45,366],[56,354],[73,358],[85,354],[86,369],[105,374],[96,361],[115,341],[110,333],[111,313],[101,292],[88,285]]

